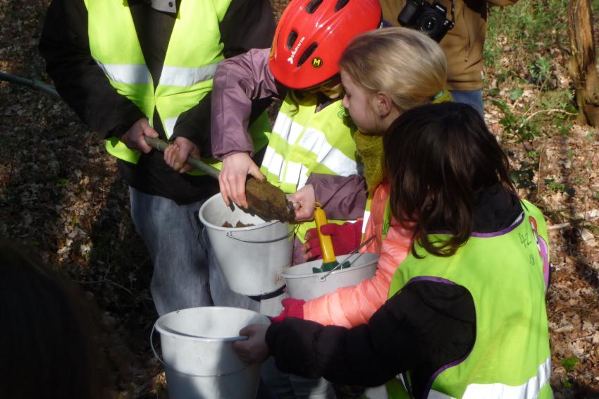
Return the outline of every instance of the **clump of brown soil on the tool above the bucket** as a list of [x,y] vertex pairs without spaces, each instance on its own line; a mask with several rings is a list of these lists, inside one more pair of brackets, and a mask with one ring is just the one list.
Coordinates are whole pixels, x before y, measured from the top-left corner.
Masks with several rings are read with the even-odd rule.
[[289,211],[292,204],[280,188],[255,178],[248,178],[245,183],[245,196],[250,213],[255,213],[266,221],[295,221],[295,213]]

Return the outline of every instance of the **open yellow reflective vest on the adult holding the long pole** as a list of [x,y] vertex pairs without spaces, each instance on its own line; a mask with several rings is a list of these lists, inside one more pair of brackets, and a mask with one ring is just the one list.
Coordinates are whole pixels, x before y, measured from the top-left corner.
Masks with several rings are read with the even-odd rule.
[[[173,135],[181,113],[212,90],[218,62],[224,59],[219,23],[231,0],[181,1],[156,90],[146,66],[126,0],[85,0],[89,49],[116,91],[130,99],[153,122],[158,111],[166,137]],[[268,118],[254,123],[254,147],[268,142]],[[137,164],[140,152],[119,137],[106,140],[113,156]],[[215,159],[204,159],[219,167]]]

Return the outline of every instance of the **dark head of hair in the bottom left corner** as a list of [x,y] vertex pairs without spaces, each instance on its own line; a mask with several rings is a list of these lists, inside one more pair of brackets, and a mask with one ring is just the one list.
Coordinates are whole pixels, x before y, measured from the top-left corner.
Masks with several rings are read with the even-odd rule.
[[29,250],[0,238],[3,398],[103,397],[85,300]]

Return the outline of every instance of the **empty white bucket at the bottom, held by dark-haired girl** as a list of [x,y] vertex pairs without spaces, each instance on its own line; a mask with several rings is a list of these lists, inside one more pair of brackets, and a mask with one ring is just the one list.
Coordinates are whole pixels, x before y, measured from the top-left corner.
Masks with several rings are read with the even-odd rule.
[[171,399],[254,399],[260,364],[242,362],[233,350],[239,331],[248,324],[270,324],[268,317],[236,307],[192,307],[163,315],[154,329],[160,333]]

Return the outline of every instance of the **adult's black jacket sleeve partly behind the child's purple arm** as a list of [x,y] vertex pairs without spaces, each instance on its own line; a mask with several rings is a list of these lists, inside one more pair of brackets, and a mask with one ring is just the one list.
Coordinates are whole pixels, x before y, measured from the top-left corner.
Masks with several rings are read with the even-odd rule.
[[[268,0],[233,0],[221,22],[223,52],[229,58],[249,49],[270,47],[274,32],[273,11]],[[261,110],[264,108],[262,106]],[[208,95],[179,116],[173,133],[173,137],[192,140],[199,146],[202,156],[211,150],[210,112],[211,96]]]

